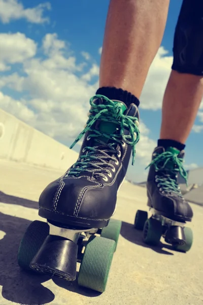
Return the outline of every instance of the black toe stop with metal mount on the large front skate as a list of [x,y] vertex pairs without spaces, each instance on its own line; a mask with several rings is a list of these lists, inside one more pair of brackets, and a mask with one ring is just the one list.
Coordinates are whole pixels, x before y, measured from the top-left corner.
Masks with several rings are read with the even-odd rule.
[[66,281],[76,280],[78,238],[81,230],[50,226],[50,235],[30,262],[30,267]]

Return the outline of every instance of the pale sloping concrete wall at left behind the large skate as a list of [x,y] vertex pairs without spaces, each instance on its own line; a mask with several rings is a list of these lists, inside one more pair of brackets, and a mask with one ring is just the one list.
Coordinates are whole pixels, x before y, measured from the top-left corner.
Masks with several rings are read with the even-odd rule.
[[77,158],[74,150],[0,109],[0,159],[66,170]]

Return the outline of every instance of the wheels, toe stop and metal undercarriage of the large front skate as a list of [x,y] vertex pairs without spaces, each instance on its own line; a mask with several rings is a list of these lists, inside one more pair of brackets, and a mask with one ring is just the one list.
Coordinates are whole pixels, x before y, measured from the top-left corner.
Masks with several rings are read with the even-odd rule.
[[120,229],[121,222],[114,219],[101,229],[34,221],[21,240],[18,264],[29,271],[75,281],[80,263],[78,284],[104,292]]

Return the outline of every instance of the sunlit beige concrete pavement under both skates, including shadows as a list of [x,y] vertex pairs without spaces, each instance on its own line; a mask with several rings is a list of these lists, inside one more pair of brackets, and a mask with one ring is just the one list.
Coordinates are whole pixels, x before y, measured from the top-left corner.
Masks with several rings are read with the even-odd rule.
[[[136,169],[135,169],[136,170]],[[17,264],[20,239],[38,216],[43,188],[62,171],[0,160],[0,304],[27,305],[200,305],[203,303],[203,207],[192,204],[192,249],[178,253],[164,244],[149,248],[133,229],[137,209],[146,209],[146,190],[124,183],[116,219],[123,221],[107,290],[98,294],[46,276],[29,275]]]

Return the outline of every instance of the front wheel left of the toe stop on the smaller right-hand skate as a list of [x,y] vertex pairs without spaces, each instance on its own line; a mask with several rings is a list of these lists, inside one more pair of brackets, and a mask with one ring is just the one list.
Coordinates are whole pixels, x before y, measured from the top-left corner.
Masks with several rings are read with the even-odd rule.
[[143,229],[143,239],[148,245],[157,246],[162,235],[161,223],[153,218],[146,220]]

